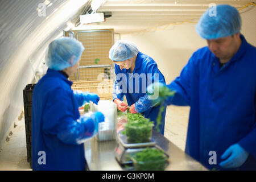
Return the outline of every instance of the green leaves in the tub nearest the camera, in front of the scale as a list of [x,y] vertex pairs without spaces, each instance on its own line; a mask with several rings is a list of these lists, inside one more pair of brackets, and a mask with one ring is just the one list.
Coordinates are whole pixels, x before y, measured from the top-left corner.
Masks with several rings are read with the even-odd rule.
[[163,171],[166,167],[167,156],[162,150],[146,148],[131,157],[137,171]]

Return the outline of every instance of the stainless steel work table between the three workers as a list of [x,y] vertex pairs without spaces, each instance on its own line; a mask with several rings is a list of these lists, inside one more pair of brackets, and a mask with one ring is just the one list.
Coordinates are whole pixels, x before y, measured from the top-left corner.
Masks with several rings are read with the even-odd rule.
[[[155,130],[152,132],[152,138],[156,144],[160,146],[168,155],[170,164],[166,167],[166,170],[208,170],[202,166],[199,162],[191,158],[191,156],[185,154],[175,144],[170,142],[162,134],[159,134]],[[101,141],[98,142],[94,137],[87,140],[84,143],[85,158],[88,163],[89,170],[92,171],[119,171],[125,170],[123,166],[120,166],[115,159],[115,147],[117,146],[116,140]]]

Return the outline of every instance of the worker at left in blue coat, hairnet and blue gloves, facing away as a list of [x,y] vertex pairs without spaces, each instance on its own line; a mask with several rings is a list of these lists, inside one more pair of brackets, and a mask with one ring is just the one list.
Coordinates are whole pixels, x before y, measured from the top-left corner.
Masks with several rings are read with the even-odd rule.
[[84,102],[98,103],[95,93],[73,91],[68,77],[77,71],[84,47],[76,39],[49,44],[48,70],[36,84],[32,98],[32,169],[85,170],[84,144],[104,121],[100,112],[80,116]]

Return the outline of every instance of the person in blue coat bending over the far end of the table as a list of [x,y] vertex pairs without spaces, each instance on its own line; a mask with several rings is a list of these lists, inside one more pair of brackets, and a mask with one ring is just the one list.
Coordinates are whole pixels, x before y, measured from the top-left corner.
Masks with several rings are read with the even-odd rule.
[[[109,58],[115,63],[115,82],[113,101],[121,111],[128,109],[130,113],[142,113],[144,117],[154,122],[154,127],[164,134],[166,106],[163,106],[162,119],[157,122],[159,109],[148,107],[146,88],[154,81],[165,83],[164,76],[158,65],[150,57],[138,51],[137,46],[127,40],[118,40],[109,51]],[[126,96],[127,104],[123,102]],[[147,102],[147,103],[146,103]]]

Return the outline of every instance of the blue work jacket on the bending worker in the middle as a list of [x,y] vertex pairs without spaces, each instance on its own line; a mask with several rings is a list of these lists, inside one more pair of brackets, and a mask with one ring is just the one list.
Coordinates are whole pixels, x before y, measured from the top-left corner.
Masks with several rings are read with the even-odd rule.
[[[119,73],[122,75],[118,75]],[[146,95],[147,86],[157,79],[155,73],[158,74],[158,82],[166,82],[155,61],[150,56],[147,56],[142,52],[138,52],[137,54],[133,73],[130,72],[130,69],[121,70],[119,65],[115,64],[116,78],[114,82],[113,100],[115,100],[115,98],[119,98],[119,100],[123,101],[123,96],[126,96],[129,106],[133,105],[135,102],[143,102],[144,100],[142,97]],[[138,76],[140,76],[139,79]],[[117,86],[120,82],[122,82],[121,86]],[[141,105],[143,105],[143,103],[141,103]],[[144,117],[149,118],[150,121],[153,121],[156,126],[156,118],[158,117],[159,109],[160,105],[145,108],[142,114]],[[161,124],[159,126],[161,134],[164,134],[165,117],[166,106],[164,106]]]

